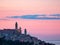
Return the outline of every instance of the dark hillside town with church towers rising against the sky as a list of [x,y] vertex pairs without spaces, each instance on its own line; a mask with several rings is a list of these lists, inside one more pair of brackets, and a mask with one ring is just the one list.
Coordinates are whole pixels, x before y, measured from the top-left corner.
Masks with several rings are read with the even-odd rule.
[[[6,44],[6,42],[9,42]],[[2,42],[2,43],[1,43]],[[15,42],[14,44],[12,44]],[[29,44],[28,44],[29,43]],[[18,29],[18,23],[15,23],[15,29],[3,29],[0,30],[0,45],[55,45],[52,43],[46,43],[36,37],[32,37],[27,34],[27,29],[24,29],[22,33],[21,27]]]

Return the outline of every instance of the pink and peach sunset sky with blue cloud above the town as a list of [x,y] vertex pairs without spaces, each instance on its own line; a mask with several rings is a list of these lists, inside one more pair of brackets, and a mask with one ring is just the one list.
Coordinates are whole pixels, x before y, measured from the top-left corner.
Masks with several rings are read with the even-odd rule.
[[0,29],[15,22],[30,35],[60,40],[60,0],[0,0]]

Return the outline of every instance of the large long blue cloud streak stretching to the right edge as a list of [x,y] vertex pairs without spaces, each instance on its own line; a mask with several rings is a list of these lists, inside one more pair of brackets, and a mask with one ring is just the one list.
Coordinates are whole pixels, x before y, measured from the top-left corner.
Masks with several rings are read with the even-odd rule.
[[8,16],[7,18],[19,19],[38,19],[38,20],[60,20],[60,14],[52,15],[22,15],[22,16]]

